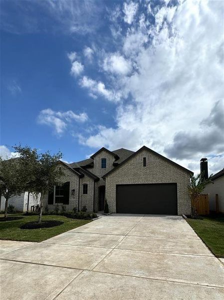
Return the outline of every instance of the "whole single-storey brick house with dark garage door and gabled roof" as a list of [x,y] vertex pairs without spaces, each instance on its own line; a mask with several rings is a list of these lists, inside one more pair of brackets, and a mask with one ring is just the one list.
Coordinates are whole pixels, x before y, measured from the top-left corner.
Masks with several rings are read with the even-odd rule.
[[101,211],[107,199],[117,213],[191,214],[188,184],[192,171],[143,146],[136,152],[104,147],[90,158],[61,161],[62,186],[43,199],[44,206]]

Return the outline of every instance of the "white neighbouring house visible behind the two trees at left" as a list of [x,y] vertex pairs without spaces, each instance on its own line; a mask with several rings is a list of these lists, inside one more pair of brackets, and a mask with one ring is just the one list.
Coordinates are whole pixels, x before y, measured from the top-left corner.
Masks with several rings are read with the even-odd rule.
[[[0,210],[4,210],[5,197],[1,196],[0,198]],[[26,211],[27,205],[28,210],[32,205],[36,206],[38,204],[38,199],[35,198],[31,193],[23,192],[20,195],[13,196],[8,199],[8,205],[13,205],[15,210]]]

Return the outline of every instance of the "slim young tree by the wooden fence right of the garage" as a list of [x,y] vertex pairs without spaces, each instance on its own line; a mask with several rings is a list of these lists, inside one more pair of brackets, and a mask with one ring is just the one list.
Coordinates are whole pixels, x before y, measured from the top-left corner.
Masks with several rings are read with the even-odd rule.
[[[212,175],[211,175],[212,176]],[[210,178],[211,178],[210,176]],[[206,184],[211,182],[210,178],[204,179],[203,174],[199,173],[198,175],[191,176],[191,183],[188,185],[188,191],[191,197],[192,202],[192,215],[197,215],[197,203],[200,198],[200,194],[203,192]]]

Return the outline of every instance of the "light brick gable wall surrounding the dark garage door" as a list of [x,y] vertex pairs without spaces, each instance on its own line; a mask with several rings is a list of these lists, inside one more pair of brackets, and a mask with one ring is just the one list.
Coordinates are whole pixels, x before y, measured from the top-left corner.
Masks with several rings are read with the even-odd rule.
[[[143,166],[143,157],[147,165]],[[116,212],[116,184],[177,182],[178,214],[191,214],[188,194],[190,174],[156,154],[143,149],[106,177],[106,199],[110,212]]]

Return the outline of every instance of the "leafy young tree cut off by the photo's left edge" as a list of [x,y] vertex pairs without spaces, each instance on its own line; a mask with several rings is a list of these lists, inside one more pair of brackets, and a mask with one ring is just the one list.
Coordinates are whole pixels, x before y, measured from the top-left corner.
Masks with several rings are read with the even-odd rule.
[[3,160],[0,157],[0,195],[5,197],[4,217],[7,217],[8,199],[25,191],[25,177],[19,158]]

